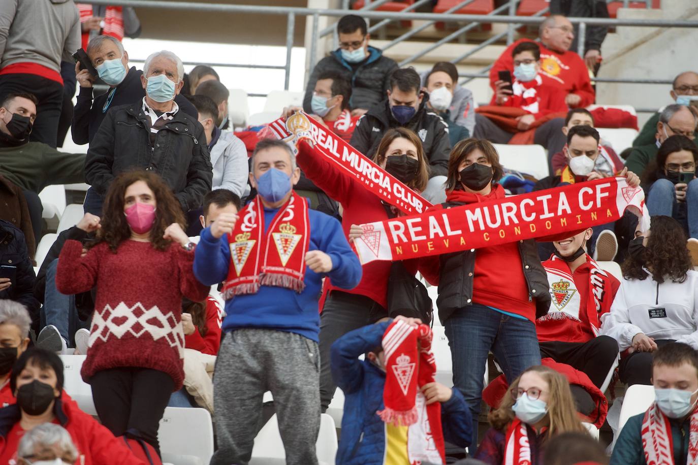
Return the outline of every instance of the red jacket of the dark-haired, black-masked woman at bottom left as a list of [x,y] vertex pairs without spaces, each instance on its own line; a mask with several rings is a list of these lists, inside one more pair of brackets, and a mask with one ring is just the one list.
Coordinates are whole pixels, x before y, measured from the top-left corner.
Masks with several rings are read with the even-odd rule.
[[[75,465],[145,465],[135,457],[120,439],[100,425],[97,420],[84,413],[75,402],[56,401],[54,423],[61,425],[70,434],[77,448]],[[16,459],[17,445],[24,429],[20,427],[22,412],[17,405],[0,409],[0,464]]]

